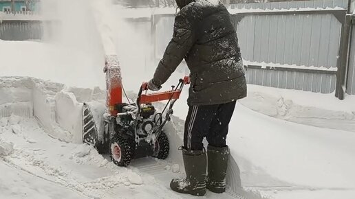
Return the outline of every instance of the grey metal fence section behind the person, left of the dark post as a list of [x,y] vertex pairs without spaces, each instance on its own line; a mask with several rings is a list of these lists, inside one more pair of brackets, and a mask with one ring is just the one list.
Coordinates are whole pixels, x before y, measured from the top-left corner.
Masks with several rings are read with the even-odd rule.
[[[233,14],[241,54],[248,61],[248,83],[334,92],[343,15],[344,9],[241,10]],[[156,58],[164,53],[172,27],[173,16],[155,16]]]

